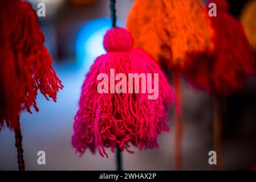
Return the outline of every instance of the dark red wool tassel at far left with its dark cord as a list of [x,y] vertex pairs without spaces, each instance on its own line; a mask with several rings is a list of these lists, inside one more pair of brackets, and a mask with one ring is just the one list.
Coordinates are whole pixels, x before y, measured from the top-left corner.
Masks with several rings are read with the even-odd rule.
[[56,101],[63,86],[52,68],[52,59],[44,47],[44,35],[35,11],[19,0],[0,2],[0,130],[4,123],[15,130],[19,169],[23,170],[22,136],[19,114],[36,106],[38,89]]

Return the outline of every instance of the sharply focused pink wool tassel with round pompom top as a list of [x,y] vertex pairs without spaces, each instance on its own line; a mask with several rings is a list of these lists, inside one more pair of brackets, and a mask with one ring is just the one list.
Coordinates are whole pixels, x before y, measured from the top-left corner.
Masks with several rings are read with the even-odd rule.
[[[104,36],[107,53],[97,57],[87,73],[75,116],[72,144],[81,155],[87,148],[92,152],[97,148],[103,157],[108,156],[105,147],[111,147],[112,152],[114,148],[131,152],[130,144],[152,149],[159,147],[157,137],[161,131],[169,130],[165,123],[169,119],[166,112],[173,101],[177,105],[173,89],[155,60],[142,49],[132,47],[133,39],[124,28],[111,28]],[[110,93],[111,88],[108,93],[98,93],[97,75],[105,73],[111,80],[110,69],[115,69],[115,75],[124,73],[126,76],[128,73],[159,73],[159,97],[148,100],[148,92]],[[128,83],[129,79],[126,81]],[[115,85],[117,82],[115,80]]]

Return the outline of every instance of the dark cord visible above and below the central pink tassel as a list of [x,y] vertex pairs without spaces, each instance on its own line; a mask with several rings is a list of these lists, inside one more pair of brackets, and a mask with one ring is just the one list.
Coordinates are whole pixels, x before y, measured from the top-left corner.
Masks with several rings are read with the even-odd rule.
[[[116,0],[110,0],[110,13],[111,13],[111,21],[112,28],[116,28]],[[117,171],[122,171],[122,154],[120,148],[116,149],[116,169]]]

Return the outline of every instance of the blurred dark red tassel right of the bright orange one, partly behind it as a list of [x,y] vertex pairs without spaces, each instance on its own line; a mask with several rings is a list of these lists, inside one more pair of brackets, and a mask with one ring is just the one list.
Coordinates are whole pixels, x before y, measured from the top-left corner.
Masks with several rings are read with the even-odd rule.
[[217,16],[210,17],[214,29],[213,52],[190,54],[184,73],[194,87],[227,96],[242,89],[246,77],[255,75],[254,53],[241,23],[228,13],[228,3],[210,2],[217,5]]

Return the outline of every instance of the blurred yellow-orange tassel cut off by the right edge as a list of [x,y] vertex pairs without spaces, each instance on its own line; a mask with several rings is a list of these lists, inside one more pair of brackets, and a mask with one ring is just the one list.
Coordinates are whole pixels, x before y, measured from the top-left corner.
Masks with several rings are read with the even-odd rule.
[[245,34],[256,54],[256,1],[249,1],[243,8],[241,22],[245,29]]

